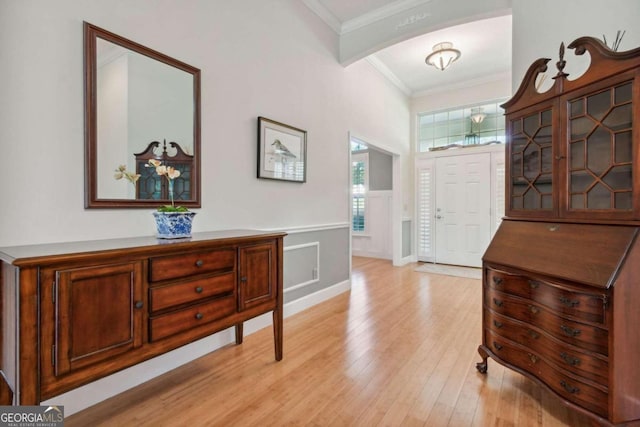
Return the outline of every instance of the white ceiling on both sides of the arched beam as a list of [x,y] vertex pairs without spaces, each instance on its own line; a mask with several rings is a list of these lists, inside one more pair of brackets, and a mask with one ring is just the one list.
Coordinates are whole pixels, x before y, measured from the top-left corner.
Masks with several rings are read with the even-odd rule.
[[[415,5],[417,0],[303,0],[334,30],[367,23]],[[425,64],[433,45],[448,41],[462,56],[445,71]],[[367,57],[406,94],[510,79],[511,16],[444,28],[387,47]]]

